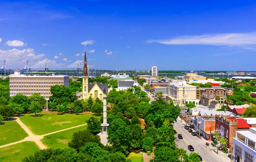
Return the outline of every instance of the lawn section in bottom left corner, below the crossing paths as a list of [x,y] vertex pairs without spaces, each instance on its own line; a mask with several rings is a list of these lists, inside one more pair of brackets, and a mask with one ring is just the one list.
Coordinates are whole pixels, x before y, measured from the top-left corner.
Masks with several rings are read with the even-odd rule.
[[0,148],[0,161],[20,162],[24,157],[39,151],[35,142],[26,141],[15,145]]

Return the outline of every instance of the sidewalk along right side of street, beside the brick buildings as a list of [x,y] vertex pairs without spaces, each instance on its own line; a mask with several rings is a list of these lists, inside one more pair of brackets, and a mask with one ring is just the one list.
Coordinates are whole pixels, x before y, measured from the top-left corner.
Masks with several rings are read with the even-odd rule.
[[[177,122],[180,122],[180,117],[177,118]],[[182,120],[182,124],[186,125],[186,122],[184,120]],[[188,124],[187,124],[188,125]],[[198,138],[198,142],[201,143],[201,145],[206,145],[206,142],[209,143],[209,146],[207,146],[206,148],[208,148],[210,151],[212,151],[213,153],[215,153],[217,156],[222,157],[223,159],[225,159],[225,161],[230,161],[230,158],[227,157],[227,154],[218,150],[218,154],[217,154],[217,148],[213,147],[211,145],[211,143],[213,143],[212,141],[206,140],[205,138]]]

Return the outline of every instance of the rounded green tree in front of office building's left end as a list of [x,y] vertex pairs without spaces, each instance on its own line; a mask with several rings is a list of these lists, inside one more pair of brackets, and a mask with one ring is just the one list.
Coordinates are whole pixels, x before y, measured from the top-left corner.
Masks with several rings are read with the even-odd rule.
[[[9,103],[10,106],[12,106],[12,104],[20,105],[22,109],[26,111],[29,109],[30,99],[28,96],[17,94],[10,99]],[[14,105],[12,107],[14,107]]]

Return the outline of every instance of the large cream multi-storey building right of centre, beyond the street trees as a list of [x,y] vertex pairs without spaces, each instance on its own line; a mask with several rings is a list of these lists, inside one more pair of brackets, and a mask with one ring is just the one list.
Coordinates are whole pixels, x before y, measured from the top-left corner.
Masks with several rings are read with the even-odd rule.
[[174,104],[185,102],[199,104],[199,100],[196,99],[196,86],[189,85],[184,80],[173,80],[168,83],[167,94]]

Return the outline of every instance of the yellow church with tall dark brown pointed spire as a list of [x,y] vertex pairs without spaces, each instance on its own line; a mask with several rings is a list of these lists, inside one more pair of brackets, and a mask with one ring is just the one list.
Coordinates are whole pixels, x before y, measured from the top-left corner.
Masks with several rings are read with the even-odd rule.
[[91,97],[93,99],[99,98],[103,101],[104,91],[105,94],[108,94],[107,84],[101,84],[100,82],[88,84],[87,60],[85,50],[82,99],[85,100]]

